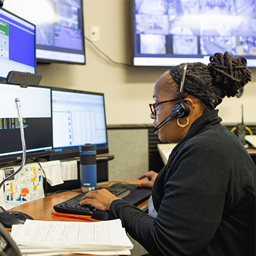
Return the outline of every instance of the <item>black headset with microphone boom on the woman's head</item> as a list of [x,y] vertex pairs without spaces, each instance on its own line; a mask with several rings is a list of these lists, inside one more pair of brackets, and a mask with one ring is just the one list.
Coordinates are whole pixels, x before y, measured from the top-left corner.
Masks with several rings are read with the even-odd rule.
[[178,100],[179,102],[176,103],[172,108],[172,113],[168,115],[157,127],[154,129],[154,132],[159,130],[163,125],[167,124],[172,118],[175,116],[177,117],[186,117],[190,113],[190,108],[187,103],[183,102],[182,94],[183,94],[183,88],[184,88],[184,82],[185,82],[185,76],[186,76],[186,70],[188,67],[188,63],[185,64],[184,70],[180,79],[180,86],[179,86],[179,94],[178,94]]

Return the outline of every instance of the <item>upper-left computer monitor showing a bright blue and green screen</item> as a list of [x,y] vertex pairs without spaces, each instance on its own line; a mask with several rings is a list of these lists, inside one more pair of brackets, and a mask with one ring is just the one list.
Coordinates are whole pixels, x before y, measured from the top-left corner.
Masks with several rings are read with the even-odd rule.
[[12,70],[36,72],[35,24],[3,8],[0,8],[0,66],[2,81]]

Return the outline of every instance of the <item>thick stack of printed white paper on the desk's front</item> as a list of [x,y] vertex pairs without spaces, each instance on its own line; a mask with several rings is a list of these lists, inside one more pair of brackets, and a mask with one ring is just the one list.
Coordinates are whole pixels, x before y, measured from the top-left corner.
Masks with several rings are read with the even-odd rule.
[[35,221],[13,225],[12,237],[22,255],[89,253],[129,255],[133,244],[120,220]]

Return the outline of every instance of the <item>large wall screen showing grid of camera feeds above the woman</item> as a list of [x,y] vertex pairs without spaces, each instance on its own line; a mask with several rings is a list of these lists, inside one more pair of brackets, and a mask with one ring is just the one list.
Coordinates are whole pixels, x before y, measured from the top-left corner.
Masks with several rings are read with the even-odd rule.
[[256,67],[255,0],[134,0],[134,65],[209,63],[215,52]]

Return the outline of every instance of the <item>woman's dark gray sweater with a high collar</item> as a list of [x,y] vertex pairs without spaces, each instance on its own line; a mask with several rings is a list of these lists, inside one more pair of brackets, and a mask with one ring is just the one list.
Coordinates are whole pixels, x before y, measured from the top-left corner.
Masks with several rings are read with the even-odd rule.
[[256,167],[218,110],[200,116],[154,182],[157,218],[115,200],[110,218],[151,255],[255,256]]

